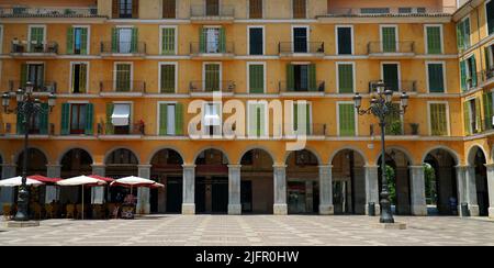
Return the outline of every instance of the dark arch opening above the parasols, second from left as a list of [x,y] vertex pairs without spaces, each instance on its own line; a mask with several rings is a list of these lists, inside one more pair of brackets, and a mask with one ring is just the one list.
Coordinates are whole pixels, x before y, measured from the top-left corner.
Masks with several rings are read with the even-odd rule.
[[67,152],[60,160],[60,175],[61,178],[72,178],[80,175],[92,174],[92,157],[85,149],[70,149]]

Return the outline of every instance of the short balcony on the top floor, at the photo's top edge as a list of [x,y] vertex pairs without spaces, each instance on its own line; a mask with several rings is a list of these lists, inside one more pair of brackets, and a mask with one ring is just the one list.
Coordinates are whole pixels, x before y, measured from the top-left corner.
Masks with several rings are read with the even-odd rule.
[[217,23],[231,24],[235,20],[235,8],[233,5],[201,4],[190,8],[190,20],[192,23]]

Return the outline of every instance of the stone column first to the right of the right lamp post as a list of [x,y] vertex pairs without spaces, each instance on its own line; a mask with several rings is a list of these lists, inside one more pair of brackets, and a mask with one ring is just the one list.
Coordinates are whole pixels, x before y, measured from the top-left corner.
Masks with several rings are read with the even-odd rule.
[[423,166],[411,166],[412,178],[411,196],[412,196],[412,215],[426,216],[427,202],[425,197],[425,174]]

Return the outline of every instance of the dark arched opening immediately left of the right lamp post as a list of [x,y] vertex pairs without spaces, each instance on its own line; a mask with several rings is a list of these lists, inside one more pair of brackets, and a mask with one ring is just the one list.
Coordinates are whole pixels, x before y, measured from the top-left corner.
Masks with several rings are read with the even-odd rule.
[[366,214],[366,160],[351,149],[333,158],[333,204],[335,214]]

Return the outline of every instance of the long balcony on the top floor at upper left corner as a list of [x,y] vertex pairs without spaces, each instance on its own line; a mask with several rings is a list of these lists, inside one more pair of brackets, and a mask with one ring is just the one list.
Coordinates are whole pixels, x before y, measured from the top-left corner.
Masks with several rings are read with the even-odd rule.
[[104,18],[98,15],[98,8],[0,8],[0,18]]

